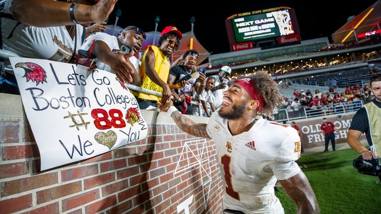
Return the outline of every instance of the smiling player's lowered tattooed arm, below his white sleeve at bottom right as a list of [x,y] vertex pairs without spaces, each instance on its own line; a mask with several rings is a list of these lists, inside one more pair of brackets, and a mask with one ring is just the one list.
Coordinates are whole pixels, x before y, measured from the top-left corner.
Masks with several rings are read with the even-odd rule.
[[297,214],[320,214],[315,193],[302,171],[286,180],[279,180],[279,182],[296,204]]

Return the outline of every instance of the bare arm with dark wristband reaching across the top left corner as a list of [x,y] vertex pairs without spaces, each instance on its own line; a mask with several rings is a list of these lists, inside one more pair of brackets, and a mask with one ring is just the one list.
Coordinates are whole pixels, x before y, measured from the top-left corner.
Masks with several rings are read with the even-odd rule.
[[[50,27],[72,25],[69,7],[72,2],[53,0],[13,0],[13,17],[26,25]],[[74,7],[74,18],[79,24],[101,22],[107,19],[114,9],[117,0],[100,0],[94,5],[77,3]]]

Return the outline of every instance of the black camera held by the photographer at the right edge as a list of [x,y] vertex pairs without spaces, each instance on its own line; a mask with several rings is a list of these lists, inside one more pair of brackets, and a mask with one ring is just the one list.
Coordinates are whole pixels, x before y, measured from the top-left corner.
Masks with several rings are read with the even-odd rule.
[[361,174],[368,174],[373,176],[381,176],[381,160],[376,158],[372,160],[364,160],[362,156],[353,160],[353,167]]

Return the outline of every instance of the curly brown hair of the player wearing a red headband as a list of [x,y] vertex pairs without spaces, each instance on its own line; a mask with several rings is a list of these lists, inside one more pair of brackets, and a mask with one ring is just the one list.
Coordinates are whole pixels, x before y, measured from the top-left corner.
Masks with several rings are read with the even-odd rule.
[[274,108],[281,104],[281,93],[278,84],[271,78],[271,76],[265,71],[258,71],[256,74],[251,74],[247,77],[253,80],[255,88],[258,93],[262,96],[265,102],[263,108],[258,112],[258,114],[264,114],[267,116],[273,115]]

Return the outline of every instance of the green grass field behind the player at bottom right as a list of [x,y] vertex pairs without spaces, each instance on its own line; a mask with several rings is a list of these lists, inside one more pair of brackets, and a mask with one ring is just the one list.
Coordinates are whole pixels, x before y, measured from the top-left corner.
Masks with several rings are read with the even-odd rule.
[[[378,177],[357,172],[352,161],[359,155],[352,149],[302,155],[297,161],[306,174],[319,203],[321,214],[381,214],[381,182]],[[276,192],[286,214],[296,206],[282,188]]]

